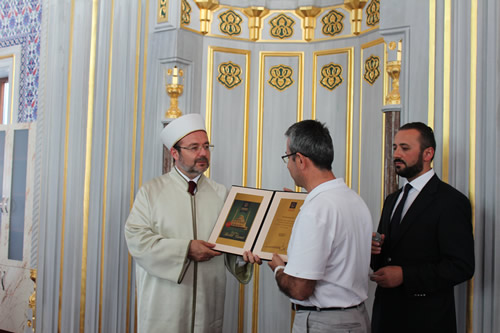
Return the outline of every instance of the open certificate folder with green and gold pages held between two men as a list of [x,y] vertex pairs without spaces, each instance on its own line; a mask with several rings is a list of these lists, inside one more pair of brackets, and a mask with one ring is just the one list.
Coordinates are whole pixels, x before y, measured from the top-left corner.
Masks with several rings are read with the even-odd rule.
[[215,250],[242,255],[250,250],[265,260],[286,259],[293,223],[307,193],[233,186],[208,241]]

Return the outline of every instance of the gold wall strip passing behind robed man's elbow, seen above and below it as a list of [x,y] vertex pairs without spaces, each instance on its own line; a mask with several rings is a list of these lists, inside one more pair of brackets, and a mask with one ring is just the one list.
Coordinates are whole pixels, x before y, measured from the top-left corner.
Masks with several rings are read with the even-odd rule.
[[[134,195],[135,195],[135,163],[136,163],[136,143],[137,143],[137,112],[138,112],[138,89],[139,89],[139,65],[141,61],[141,17],[142,17],[142,7],[141,0],[137,0],[137,25],[136,25],[136,35],[135,35],[135,73],[134,73],[134,121],[132,125],[132,165],[130,168],[130,202],[129,207],[132,209],[134,205]],[[143,97],[144,98],[144,97]],[[125,331],[130,332],[130,295],[131,289],[134,288],[132,284],[132,257],[130,253],[128,255],[128,279],[127,279],[127,323],[125,325]],[[137,307],[137,298],[135,302],[135,307]],[[135,322],[135,321],[134,321]]]

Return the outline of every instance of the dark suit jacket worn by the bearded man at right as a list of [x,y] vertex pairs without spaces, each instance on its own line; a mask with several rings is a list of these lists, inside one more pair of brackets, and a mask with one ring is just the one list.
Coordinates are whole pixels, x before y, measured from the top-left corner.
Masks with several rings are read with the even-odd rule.
[[469,199],[434,175],[388,237],[391,213],[401,190],[390,194],[378,232],[382,252],[372,256],[374,271],[401,266],[403,284],[377,287],[373,333],[456,332],[453,286],[474,274],[474,239]]

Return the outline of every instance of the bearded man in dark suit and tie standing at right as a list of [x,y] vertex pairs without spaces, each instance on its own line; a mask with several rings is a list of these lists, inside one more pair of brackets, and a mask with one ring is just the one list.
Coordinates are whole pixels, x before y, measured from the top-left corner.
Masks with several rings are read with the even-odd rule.
[[453,287],[474,274],[470,202],[432,169],[430,127],[402,126],[393,149],[396,173],[406,184],[386,198],[381,239],[372,241],[372,331],[456,332]]

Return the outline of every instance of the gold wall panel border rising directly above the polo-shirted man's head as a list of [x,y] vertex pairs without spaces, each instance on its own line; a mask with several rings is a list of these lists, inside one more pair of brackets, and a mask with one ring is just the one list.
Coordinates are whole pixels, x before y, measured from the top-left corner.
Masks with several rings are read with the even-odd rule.
[[354,47],[340,48],[328,51],[317,51],[313,53],[313,84],[312,84],[312,111],[311,119],[316,119],[316,91],[318,57],[331,54],[347,54],[347,116],[346,116],[346,156],[345,156],[345,181],[347,186],[352,186],[352,133],[354,117]]

